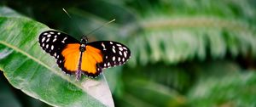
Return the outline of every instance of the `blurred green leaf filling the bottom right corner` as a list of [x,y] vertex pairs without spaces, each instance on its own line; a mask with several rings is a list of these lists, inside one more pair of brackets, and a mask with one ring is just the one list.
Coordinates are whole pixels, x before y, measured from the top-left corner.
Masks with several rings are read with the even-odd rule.
[[188,94],[192,107],[255,106],[255,71],[223,77],[209,77],[198,82]]

